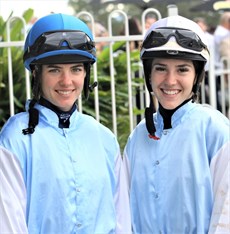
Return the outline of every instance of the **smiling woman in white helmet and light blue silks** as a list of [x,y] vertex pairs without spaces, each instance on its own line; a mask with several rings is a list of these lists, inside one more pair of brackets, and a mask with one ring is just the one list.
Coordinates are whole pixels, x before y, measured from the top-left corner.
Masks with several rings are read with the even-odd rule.
[[196,103],[208,58],[189,19],[160,19],[146,33],[150,106],[124,150],[133,233],[230,233],[229,119]]

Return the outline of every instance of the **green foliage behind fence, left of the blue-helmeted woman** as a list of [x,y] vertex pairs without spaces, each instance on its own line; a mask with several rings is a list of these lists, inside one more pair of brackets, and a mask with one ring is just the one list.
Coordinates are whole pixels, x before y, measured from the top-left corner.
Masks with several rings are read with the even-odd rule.
[[[0,17],[0,38],[2,42],[7,41],[7,22],[9,22],[12,13],[9,15],[6,21]],[[28,9],[23,18],[26,24],[33,16],[33,10]],[[10,21],[10,40],[11,41],[23,41],[24,31],[23,22],[20,19],[13,18]],[[9,111],[9,83],[8,83],[8,48],[0,48],[0,128],[10,116]],[[22,62],[23,48],[10,47],[10,53],[12,58],[12,75],[13,75],[13,91],[14,91],[14,104],[15,112],[20,112],[24,109],[24,103],[26,100],[25,90],[25,69]]]

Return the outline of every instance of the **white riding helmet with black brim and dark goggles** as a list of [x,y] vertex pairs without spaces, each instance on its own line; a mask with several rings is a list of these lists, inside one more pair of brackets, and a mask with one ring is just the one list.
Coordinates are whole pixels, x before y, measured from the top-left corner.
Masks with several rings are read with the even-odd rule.
[[[207,40],[200,26],[182,16],[170,16],[152,24],[146,32],[141,59],[164,56],[207,62]],[[164,53],[160,53],[164,52]]]

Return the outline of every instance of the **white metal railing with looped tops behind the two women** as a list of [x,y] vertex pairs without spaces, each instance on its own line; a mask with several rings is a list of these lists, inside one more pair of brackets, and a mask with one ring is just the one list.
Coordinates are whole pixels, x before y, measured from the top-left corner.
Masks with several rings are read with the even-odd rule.
[[[110,77],[111,77],[111,95],[112,95],[112,119],[113,119],[113,132],[117,135],[117,114],[116,114],[116,98],[115,98],[115,74],[114,74],[114,53],[113,53],[113,43],[117,41],[126,41],[126,53],[127,53],[127,83],[128,83],[128,97],[129,97],[129,120],[130,120],[130,132],[135,127],[136,122],[133,117],[133,94],[132,94],[132,71],[131,71],[131,65],[130,65],[130,41],[142,41],[143,40],[143,34],[144,34],[144,19],[146,14],[153,12],[157,15],[158,18],[161,18],[161,14],[158,10],[150,8],[143,12],[142,18],[141,18],[141,24],[142,24],[142,34],[141,35],[129,35],[128,33],[128,15],[120,10],[113,11],[108,16],[108,37],[95,37],[95,42],[108,42],[109,48],[110,48]],[[171,13],[170,13],[171,12]],[[176,10],[175,7],[172,8],[171,6],[168,9],[168,13],[175,14]],[[125,35],[124,36],[113,36],[112,35],[112,21],[114,14],[120,14],[124,18],[124,26],[125,26]],[[90,18],[91,24],[94,25],[94,18],[92,15],[90,15],[88,12],[80,12],[78,14],[78,17],[81,18],[82,16],[87,15]],[[9,82],[9,98],[10,98],[10,115],[15,114],[15,108],[14,108],[14,90],[13,90],[13,71],[12,71],[12,54],[11,54],[11,48],[12,47],[18,47],[22,48],[24,45],[24,41],[11,41],[10,38],[10,24],[13,20],[21,20],[23,23],[23,30],[25,32],[26,37],[26,24],[23,18],[21,17],[13,17],[7,22],[7,41],[1,42],[0,41],[0,48],[7,48],[8,50],[8,82]],[[92,27],[93,34],[94,27]],[[211,59],[210,59],[210,67],[209,67],[209,86],[205,87],[204,84],[202,84],[202,94],[204,93],[204,89],[208,88],[209,92],[209,104],[213,106],[214,108],[217,107],[217,99],[216,99],[216,76],[219,75],[221,79],[221,93],[220,93],[220,100],[221,100],[221,106],[222,106],[222,113],[226,116],[229,115],[227,113],[227,106],[229,106],[230,103],[230,61],[229,58],[223,59],[223,62],[227,63],[227,68],[222,70],[215,70],[214,68],[214,57],[213,57],[213,48],[211,49]],[[140,72],[142,72],[142,66],[140,63]],[[94,75],[94,81],[98,80],[97,77],[97,64],[94,64],[93,67],[93,75]],[[30,98],[30,77],[29,72],[25,69],[25,79],[26,79],[26,98]],[[146,89],[142,90],[144,93],[145,100],[142,100],[142,106],[144,108],[144,103],[148,104],[149,96],[148,92],[146,92]],[[98,94],[98,88],[96,87],[94,89],[94,97],[95,97],[95,116],[98,121],[100,121],[100,110],[99,110],[99,94]],[[205,96],[202,95],[202,102],[207,102],[205,100]],[[79,99],[79,108],[80,111],[82,111],[82,101],[81,98]],[[229,117],[229,116],[228,116]]]

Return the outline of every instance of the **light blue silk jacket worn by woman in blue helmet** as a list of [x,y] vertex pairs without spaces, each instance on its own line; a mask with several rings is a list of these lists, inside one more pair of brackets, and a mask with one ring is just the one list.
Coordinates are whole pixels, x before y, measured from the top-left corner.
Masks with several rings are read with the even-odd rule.
[[[28,112],[23,112],[11,117],[0,135],[14,162],[7,163],[5,171],[9,174],[18,163],[26,190],[26,197],[17,200],[24,185],[12,184],[16,199],[11,206],[3,204],[3,221],[11,223],[8,230],[20,230],[26,222],[28,230],[17,233],[129,233],[128,190],[115,136],[78,111],[71,115],[69,128],[58,128],[54,112],[36,108],[39,124],[33,134],[22,134],[28,126]],[[15,221],[12,209],[20,211],[25,202],[25,219]]]

